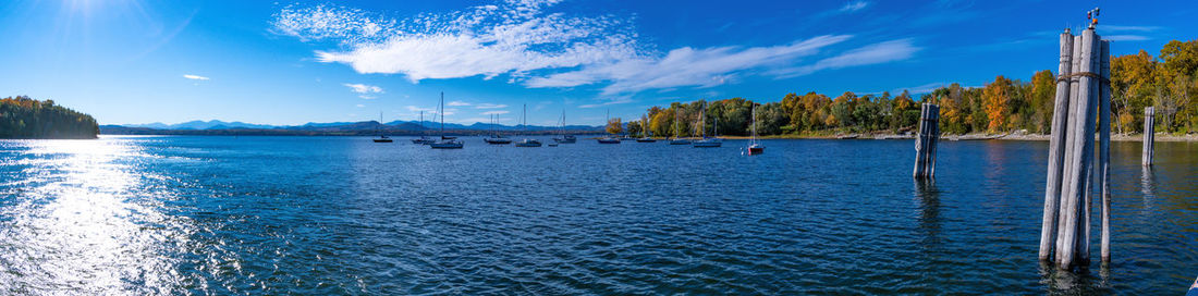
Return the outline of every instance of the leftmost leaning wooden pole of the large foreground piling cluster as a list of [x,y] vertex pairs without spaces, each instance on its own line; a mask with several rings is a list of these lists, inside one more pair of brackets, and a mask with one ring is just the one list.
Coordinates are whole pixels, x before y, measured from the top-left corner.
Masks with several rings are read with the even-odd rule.
[[1048,140],[1048,176],[1045,186],[1043,224],[1040,228],[1040,260],[1052,255],[1057,238],[1057,209],[1060,206],[1061,162],[1065,158],[1065,125],[1069,120],[1069,75],[1072,73],[1073,35],[1060,34],[1060,64],[1057,67],[1057,98],[1052,115],[1052,137]]

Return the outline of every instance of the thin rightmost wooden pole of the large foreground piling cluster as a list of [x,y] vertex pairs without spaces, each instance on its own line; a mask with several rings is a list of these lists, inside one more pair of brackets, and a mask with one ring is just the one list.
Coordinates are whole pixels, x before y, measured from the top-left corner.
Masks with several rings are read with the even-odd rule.
[[1102,89],[1099,95],[1099,168],[1102,191],[1102,262],[1111,262],[1111,42],[1102,41]]

